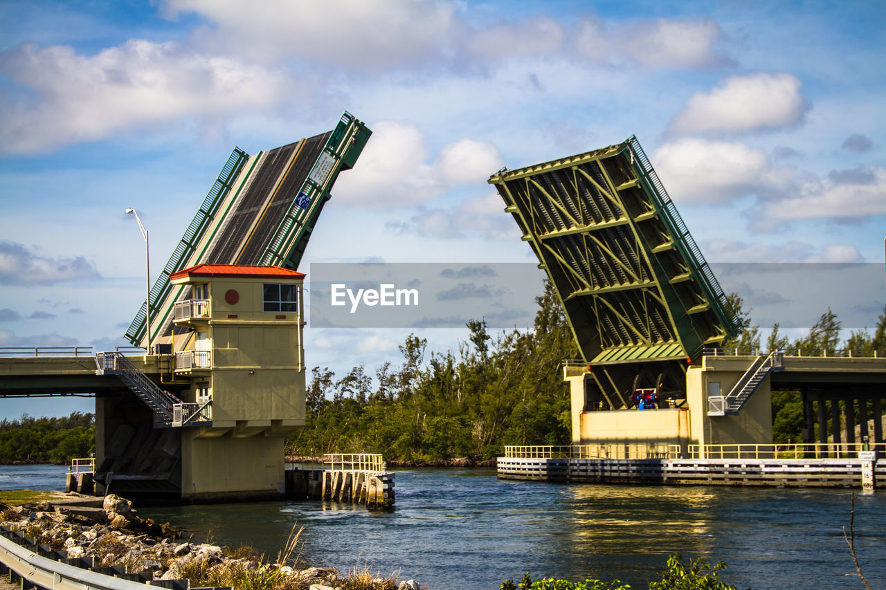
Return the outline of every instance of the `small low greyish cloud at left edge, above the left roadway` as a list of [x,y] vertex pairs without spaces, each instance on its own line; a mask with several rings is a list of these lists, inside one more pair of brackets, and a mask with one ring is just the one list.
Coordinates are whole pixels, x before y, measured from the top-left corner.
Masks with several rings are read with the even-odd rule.
[[53,259],[15,242],[0,242],[0,284],[51,284],[98,276],[95,263],[82,256]]

